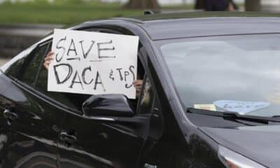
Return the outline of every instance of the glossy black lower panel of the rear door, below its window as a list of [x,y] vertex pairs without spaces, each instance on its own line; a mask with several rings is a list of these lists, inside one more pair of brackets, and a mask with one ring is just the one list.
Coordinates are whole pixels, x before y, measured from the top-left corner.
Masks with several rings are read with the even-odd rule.
[[8,85],[6,90],[1,90],[1,117],[5,116],[6,111],[17,116],[15,120],[3,118],[10,135],[6,138],[7,151],[1,166],[57,167],[60,126],[56,124],[62,123],[64,113],[55,114],[59,118],[54,118],[52,113],[55,107],[30,94],[29,90],[22,89],[5,75],[2,74],[0,78],[1,84]]

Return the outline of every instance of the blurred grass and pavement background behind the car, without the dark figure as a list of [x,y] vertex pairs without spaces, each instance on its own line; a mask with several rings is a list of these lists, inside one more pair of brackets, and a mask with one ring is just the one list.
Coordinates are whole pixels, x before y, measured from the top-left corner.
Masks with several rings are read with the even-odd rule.
[[[204,0],[0,0],[0,66],[55,28],[144,15],[144,10],[150,9],[162,13],[192,11],[195,1]],[[241,11],[280,12],[280,0],[233,1]]]

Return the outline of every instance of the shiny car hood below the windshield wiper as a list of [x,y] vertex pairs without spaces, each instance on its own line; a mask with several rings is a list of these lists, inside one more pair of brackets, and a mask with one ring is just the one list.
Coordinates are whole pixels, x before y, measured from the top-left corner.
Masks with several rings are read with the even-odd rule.
[[200,130],[221,146],[230,148],[261,165],[270,168],[280,165],[280,125],[233,129],[200,127]]

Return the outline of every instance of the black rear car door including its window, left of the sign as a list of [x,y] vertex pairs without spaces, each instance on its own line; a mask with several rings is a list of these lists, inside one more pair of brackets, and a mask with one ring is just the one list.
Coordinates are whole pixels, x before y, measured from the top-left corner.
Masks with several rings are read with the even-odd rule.
[[9,87],[1,93],[0,109],[11,135],[1,138],[7,144],[1,167],[58,167],[57,137],[64,111],[34,89],[48,48],[49,42],[39,44],[6,71],[13,80],[5,77]]

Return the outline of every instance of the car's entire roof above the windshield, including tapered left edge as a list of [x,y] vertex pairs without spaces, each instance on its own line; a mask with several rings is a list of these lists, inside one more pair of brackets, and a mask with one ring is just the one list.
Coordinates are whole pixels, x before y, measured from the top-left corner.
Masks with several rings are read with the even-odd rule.
[[152,40],[280,33],[279,13],[188,12],[115,18],[142,27]]

